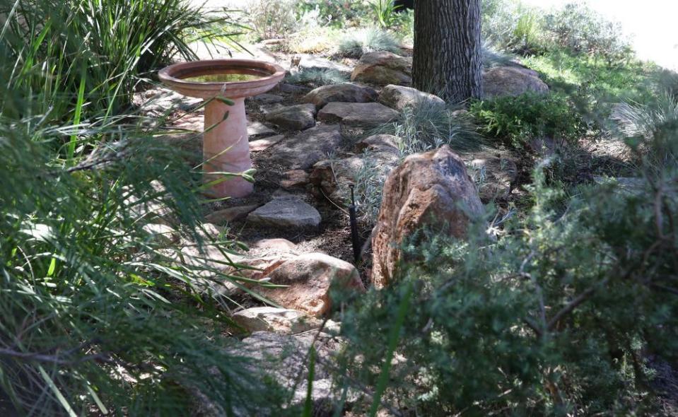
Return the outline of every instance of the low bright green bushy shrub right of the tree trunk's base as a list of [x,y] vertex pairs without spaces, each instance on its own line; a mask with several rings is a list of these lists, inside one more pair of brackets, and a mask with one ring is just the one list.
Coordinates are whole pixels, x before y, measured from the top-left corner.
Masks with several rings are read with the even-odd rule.
[[470,113],[482,134],[518,149],[544,136],[576,141],[586,131],[581,115],[561,94],[526,93],[477,101]]

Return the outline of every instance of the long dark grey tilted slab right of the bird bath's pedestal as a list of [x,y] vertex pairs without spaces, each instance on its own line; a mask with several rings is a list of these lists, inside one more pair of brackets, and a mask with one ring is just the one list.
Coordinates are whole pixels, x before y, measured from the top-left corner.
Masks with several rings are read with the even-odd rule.
[[308,170],[343,140],[338,125],[316,126],[278,143],[271,158],[292,170]]

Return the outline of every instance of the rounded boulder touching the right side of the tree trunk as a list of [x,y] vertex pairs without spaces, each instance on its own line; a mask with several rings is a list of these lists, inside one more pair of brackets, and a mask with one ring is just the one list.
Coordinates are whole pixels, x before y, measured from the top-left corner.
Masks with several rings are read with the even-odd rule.
[[524,93],[544,94],[549,86],[530,70],[515,66],[497,66],[483,73],[483,88],[486,98]]

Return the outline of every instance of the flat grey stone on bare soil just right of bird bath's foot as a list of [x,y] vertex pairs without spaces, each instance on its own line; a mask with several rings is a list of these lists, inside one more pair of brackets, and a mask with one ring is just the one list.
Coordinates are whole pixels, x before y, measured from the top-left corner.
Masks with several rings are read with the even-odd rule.
[[279,228],[317,228],[320,213],[297,196],[281,196],[252,211],[247,220]]

